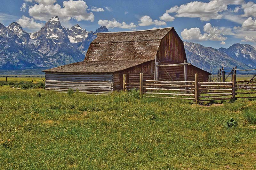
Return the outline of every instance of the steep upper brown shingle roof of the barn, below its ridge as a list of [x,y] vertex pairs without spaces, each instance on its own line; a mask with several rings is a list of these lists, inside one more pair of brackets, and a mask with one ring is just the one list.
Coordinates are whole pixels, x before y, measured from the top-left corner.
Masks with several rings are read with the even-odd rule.
[[84,61],[154,60],[162,38],[172,29],[97,33]]

